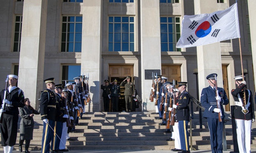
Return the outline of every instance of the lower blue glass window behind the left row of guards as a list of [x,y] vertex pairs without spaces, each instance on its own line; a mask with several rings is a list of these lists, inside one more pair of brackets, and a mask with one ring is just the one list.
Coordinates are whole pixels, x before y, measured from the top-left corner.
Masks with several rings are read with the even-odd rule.
[[63,65],[62,66],[62,85],[65,81],[74,82],[74,77],[81,74],[81,65]]

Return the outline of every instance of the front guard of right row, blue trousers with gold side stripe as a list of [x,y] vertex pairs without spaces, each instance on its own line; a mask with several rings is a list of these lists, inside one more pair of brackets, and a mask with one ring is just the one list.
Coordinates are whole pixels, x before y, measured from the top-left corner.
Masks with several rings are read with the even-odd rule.
[[190,153],[188,123],[190,120],[190,93],[186,91],[187,82],[178,82],[178,89],[181,92],[176,105],[172,105],[176,109],[176,119],[179,123],[181,151],[178,153]]

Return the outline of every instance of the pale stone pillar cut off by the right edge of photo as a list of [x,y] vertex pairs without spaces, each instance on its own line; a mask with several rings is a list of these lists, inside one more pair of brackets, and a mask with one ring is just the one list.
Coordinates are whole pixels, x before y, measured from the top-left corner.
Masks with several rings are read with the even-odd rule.
[[251,45],[252,45],[252,61],[253,61],[253,76],[254,76],[254,86],[256,86],[256,30],[253,28],[256,26],[256,0],[247,0],[248,12],[249,12],[249,22],[250,22],[250,35],[251,35]]

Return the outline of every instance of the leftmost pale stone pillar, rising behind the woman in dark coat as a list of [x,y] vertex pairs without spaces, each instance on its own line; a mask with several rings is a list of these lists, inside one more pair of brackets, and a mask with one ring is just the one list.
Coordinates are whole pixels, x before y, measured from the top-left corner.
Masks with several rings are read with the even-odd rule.
[[24,0],[18,86],[38,108],[43,90],[48,0]]

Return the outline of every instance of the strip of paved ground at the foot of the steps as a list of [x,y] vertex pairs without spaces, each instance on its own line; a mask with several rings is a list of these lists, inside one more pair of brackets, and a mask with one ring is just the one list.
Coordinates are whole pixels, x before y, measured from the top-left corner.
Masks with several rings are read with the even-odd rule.
[[[232,153],[233,150],[223,151],[223,153]],[[19,153],[13,151],[13,153]],[[40,153],[40,151],[31,151],[31,153]],[[177,153],[170,150],[70,150],[64,153]],[[211,150],[195,150],[191,153],[212,153]],[[234,152],[233,152],[234,153]],[[251,153],[256,153],[256,149],[252,149]]]

